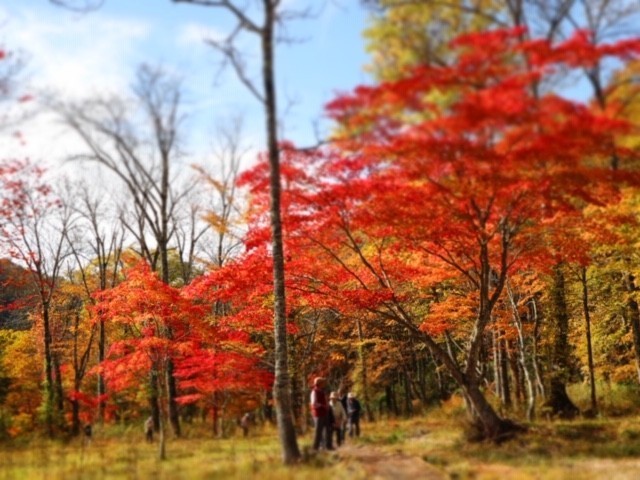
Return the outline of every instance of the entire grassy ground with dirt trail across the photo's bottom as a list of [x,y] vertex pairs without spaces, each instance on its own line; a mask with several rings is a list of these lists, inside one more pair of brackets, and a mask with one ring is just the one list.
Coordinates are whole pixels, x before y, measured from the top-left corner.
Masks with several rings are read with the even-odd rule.
[[[139,428],[96,428],[91,444],[32,440],[0,446],[4,479],[635,479],[640,478],[640,418],[540,421],[501,445],[468,443],[459,417],[441,414],[363,424],[363,435],[336,453],[281,465],[273,429],[250,438],[212,439],[187,426],[167,443],[168,459]],[[308,449],[310,434],[299,438]],[[424,470],[422,470],[424,469]],[[425,475],[420,475],[424,471]]]

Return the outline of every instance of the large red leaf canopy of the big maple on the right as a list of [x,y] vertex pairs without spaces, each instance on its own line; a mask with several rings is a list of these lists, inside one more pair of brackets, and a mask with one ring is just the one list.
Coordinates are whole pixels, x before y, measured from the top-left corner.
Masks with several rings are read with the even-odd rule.
[[[583,205],[616,200],[609,160],[628,152],[612,140],[629,125],[537,87],[558,68],[638,58],[640,40],[595,46],[577,32],[551,44],[525,33],[460,37],[451,65],[331,102],[343,132],[332,147],[283,146],[290,304],[429,310],[435,333],[480,309],[478,297],[434,296],[439,285],[473,291],[483,271],[581,259],[584,248],[560,246],[555,232],[582,222]],[[266,179],[264,164],[244,177],[256,206],[250,248],[269,239]],[[476,299],[465,315],[459,298]]]

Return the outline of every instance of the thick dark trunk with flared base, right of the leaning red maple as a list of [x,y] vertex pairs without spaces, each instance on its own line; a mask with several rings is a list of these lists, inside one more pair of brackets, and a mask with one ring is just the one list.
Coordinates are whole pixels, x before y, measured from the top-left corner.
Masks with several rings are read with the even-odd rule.
[[554,343],[551,352],[551,372],[549,379],[549,398],[547,406],[553,415],[560,418],[573,418],[578,408],[567,394],[566,382],[569,376],[569,314],[565,298],[565,280],[562,264],[553,272],[551,322]]

